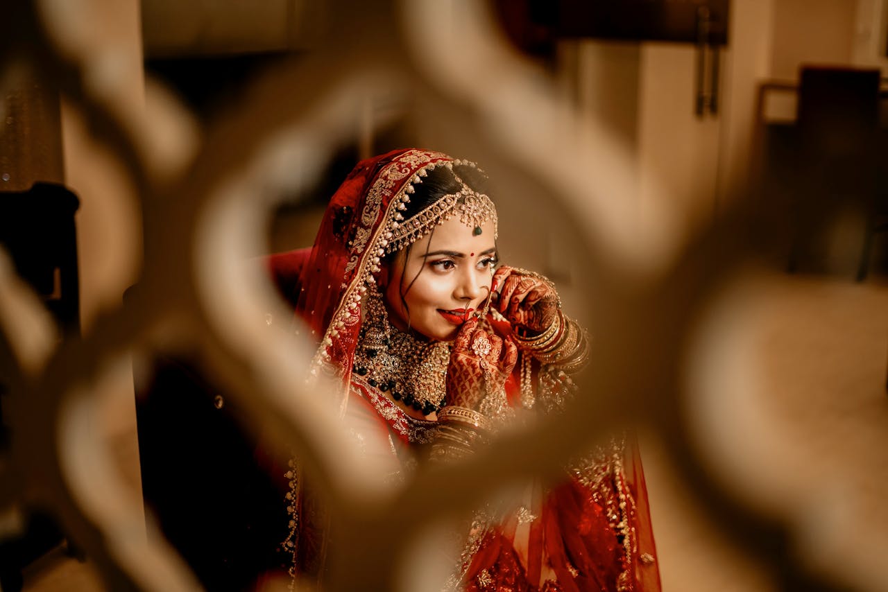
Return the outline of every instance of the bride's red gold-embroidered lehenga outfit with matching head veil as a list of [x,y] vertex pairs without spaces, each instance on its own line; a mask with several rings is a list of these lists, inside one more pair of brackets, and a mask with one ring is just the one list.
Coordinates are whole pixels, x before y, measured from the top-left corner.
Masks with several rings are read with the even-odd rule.
[[[405,467],[427,456],[436,422],[406,414],[381,389],[353,372],[360,345],[361,307],[379,271],[391,238],[392,224],[403,222],[399,205],[421,183],[426,171],[463,162],[445,154],[397,150],[360,162],[329,203],[312,249],[273,257],[275,275],[284,289],[294,290],[297,315],[320,343],[313,373],[342,381],[338,404],[359,417],[366,430],[380,430],[392,442],[392,456]],[[502,318],[491,319],[503,334]],[[536,360],[517,366],[506,383],[512,407],[534,412],[556,410],[563,403],[569,378]],[[523,378],[522,378],[523,374]],[[532,391],[522,380],[528,376]],[[548,386],[545,386],[548,385]],[[527,400],[527,399],[531,400]],[[295,470],[295,469],[294,469]],[[320,562],[321,526],[311,496],[290,473],[293,513],[287,545],[298,573],[313,572]],[[535,485],[526,503],[497,514],[496,522],[479,518],[456,561],[452,589],[465,590],[660,590],[654,537],[636,446],[631,438],[611,440],[566,467],[564,482]]]

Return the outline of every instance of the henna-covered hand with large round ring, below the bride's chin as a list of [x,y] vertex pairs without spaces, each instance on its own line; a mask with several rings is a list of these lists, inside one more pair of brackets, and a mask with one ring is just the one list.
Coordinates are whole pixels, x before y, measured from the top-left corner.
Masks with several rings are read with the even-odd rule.
[[488,392],[504,388],[517,361],[511,337],[496,335],[478,319],[467,320],[450,349],[447,405],[477,409]]

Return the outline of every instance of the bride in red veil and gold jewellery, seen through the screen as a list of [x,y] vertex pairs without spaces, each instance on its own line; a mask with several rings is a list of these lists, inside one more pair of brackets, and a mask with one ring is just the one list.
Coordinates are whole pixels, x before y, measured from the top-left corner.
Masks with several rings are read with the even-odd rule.
[[[472,162],[425,150],[360,162],[313,248],[288,256],[299,270],[297,315],[318,344],[312,372],[341,380],[343,407],[385,434],[392,472],[464,457],[520,416],[557,412],[589,356],[550,280],[497,266],[485,180]],[[291,572],[320,575],[322,512],[297,474],[288,473]],[[540,491],[476,517],[451,588],[660,589],[627,438]]]

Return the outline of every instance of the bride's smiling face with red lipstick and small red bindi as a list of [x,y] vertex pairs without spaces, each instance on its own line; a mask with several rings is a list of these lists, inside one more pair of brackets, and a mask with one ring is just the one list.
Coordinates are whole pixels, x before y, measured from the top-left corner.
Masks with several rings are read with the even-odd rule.
[[480,228],[476,234],[451,217],[413,243],[408,255],[406,249],[395,254],[385,288],[392,325],[436,341],[456,338],[460,326],[488,297],[496,265],[493,225]]

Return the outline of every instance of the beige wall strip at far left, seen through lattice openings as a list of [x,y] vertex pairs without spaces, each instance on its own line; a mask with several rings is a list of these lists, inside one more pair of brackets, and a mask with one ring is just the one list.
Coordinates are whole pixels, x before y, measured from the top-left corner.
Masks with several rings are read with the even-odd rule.
[[[93,82],[107,84],[105,96],[127,114],[138,116],[145,105],[139,0],[91,0],[79,11],[77,18],[90,26],[67,30],[88,32],[77,40],[77,47],[95,68],[98,79]],[[107,68],[104,73],[102,68]],[[80,111],[64,100],[61,123],[65,184],[80,198],[76,216],[80,309],[87,333],[102,309],[120,306],[123,289],[137,278],[141,221],[134,188],[115,154],[91,137]],[[135,398],[131,369],[125,362],[95,388],[106,403],[101,429],[140,503]]]

